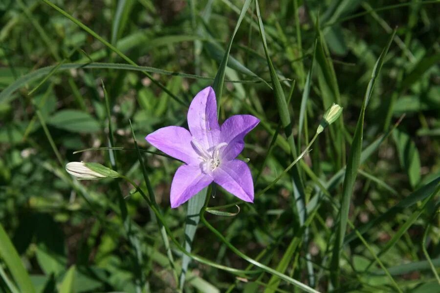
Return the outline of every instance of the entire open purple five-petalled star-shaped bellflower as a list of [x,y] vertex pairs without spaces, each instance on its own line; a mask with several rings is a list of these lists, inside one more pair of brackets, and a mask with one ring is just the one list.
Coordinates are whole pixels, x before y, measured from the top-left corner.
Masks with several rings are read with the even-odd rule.
[[222,126],[212,87],[201,90],[188,110],[189,131],[179,126],[160,128],[145,138],[164,153],[183,161],[171,184],[171,207],[177,208],[212,182],[246,201],[254,201],[249,167],[235,159],[244,136],[260,122],[252,115],[234,115]]

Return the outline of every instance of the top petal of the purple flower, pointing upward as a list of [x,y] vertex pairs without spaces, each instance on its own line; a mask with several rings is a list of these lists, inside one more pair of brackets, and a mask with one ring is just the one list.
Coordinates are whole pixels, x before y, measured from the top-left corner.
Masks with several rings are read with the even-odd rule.
[[202,89],[191,102],[188,109],[188,127],[193,137],[206,150],[219,143],[217,101],[211,86]]

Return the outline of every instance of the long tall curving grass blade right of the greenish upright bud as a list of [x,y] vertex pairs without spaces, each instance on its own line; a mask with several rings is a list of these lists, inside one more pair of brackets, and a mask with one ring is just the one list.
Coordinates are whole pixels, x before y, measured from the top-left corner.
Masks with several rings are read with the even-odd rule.
[[383,49],[382,53],[377,59],[377,62],[374,65],[374,69],[371,75],[371,80],[367,86],[367,91],[364,96],[364,101],[362,103],[359,119],[357,121],[356,129],[354,131],[352,146],[348,157],[347,169],[345,172],[344,183],[342,187],[341,210],[339,213],[339,226],[337,227],[336,230],[336,237],[333,245],[333,253],[330,263],[330,278],[335,288],[339,288],[339,257],[342,249],[343,239],[345,237],[345,231],[347,229],[347,222],[348,222],[350,202],[351,202],[354,182],[356,180],[357,169],[359,168],[360,165],[365,110],[373,94],[373,89],[377,76],[380,72],[380,69],[382,68],[384,58],[388,52],[388,49],[390,48],[391,42],[393,41],[395,34],[396,34],[396,30],[393,32],[387,45]]

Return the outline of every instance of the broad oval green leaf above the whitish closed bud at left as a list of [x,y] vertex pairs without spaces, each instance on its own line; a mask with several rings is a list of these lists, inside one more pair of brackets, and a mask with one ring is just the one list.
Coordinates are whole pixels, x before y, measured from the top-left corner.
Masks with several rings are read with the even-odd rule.
[[52,115],[47,124],[79,133],[93,133],[100,130],[99,123],[88,113],[80,110],[61,110]]

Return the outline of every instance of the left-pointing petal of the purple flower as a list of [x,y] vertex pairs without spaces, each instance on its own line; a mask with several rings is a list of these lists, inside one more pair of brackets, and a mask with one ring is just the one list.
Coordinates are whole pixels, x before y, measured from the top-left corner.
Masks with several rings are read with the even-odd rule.
[[145,139],[167,155],[189,165],[198,165],[198,155],[191,146],[191,133],[183,127],[159,128],[147,135]]

